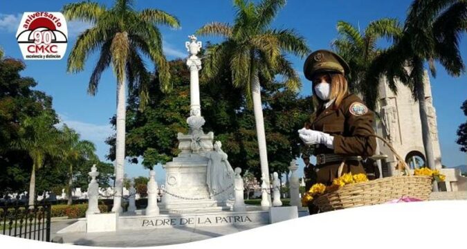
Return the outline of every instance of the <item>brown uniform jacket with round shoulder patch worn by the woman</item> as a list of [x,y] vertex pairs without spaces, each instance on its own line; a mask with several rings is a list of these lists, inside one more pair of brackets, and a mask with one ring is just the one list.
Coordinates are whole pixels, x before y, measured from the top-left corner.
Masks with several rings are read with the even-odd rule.
[[[311,129],[333,136],[333,149],[318,145],[313,154],[372,156],[376,149],[376,139],[368,135],[374,134],[373,119],[374,113],[354,94],[347,95],[337,109],[331,104],[327,109],[318,110],[310,120]],[[330,185],[334,178],[338,178],[340,163],[342,161],[316,165],[317,182]],[[358,160],[346,160],[342,174],[347,172],[365,174],[365,169]]]

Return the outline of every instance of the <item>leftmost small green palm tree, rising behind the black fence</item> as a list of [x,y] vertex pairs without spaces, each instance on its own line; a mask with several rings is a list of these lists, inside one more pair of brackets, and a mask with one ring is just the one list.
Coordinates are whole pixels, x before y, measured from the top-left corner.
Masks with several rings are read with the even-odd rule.
[[29,181],[29,205],[34,205],[36,171],[44,165],[46,156],[57,156],[57,129],[53,126],[55,117],[51,113],[44,112],[34,118],[26,117],[19,127],[17,140],[13,140],[12,149],[27,151],[33,167]]

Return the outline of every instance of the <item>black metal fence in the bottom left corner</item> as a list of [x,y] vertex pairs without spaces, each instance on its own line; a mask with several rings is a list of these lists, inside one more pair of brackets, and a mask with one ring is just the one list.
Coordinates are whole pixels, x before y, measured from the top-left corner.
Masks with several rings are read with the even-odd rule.
[[51,241],[51,204],[1,205],[0,234]]

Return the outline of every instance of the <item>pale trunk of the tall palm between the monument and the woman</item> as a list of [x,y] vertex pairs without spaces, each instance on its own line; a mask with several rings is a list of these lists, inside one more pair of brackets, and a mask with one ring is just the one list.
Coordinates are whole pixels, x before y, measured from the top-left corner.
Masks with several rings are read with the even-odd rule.
[[[261,174],[266,178],[266,185],[269,187],[269,167],[268,153],[266,151],[266,133],[264,133],[263,107],[261,102],[261,87],[259,86],[258,75],[255,74],[252,79],[253,86],[251,93],[253,98],[253,111],[255,113],[256,134],[259,148],[259,161],[261,164]],[[268,194],[269,205],[271,205],[271,195]]]

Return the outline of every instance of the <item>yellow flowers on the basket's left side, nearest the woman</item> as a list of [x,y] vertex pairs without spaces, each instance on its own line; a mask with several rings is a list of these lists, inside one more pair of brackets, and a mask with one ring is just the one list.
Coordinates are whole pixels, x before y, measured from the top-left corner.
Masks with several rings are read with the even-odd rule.
[[313,201],[315,196],[324,193],[330,193],[333,191],[338,190],[340,187],[344,187],[345,185],[353,184],[353,183],[362,183],[368,181],[366,174],[352,174],[351,172],[342,174],[339,178],[333,180],[332,184],[326,186],[322,183],[316,183],[315,185],[311,186],[308,192],[306,192],[302,197],[302,205],[306,206],[310,201]]

